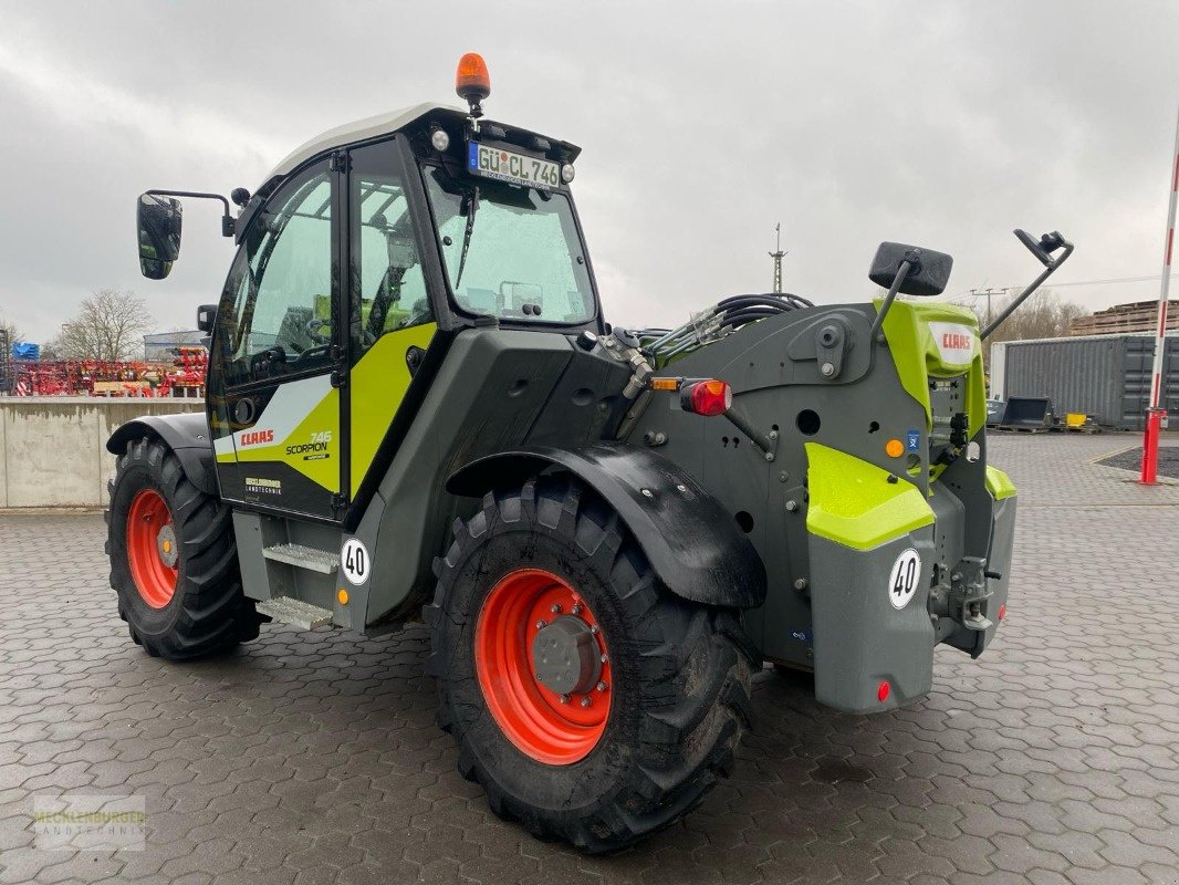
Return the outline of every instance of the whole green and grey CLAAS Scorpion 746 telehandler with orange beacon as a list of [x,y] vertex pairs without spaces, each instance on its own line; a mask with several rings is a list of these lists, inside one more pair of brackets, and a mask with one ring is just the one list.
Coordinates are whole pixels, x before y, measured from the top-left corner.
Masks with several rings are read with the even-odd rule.
[[[489,91],[466,55],[467,109],[331,130],[235,190],[236,215],[139,198],[147,277],[177,258],[177,197],[220,199],[238,248],[198,309],[206,414],[107,442],[111,583],[167,658],[268,620],[423,615],[462,774],[607,851],[729,773],[763,662],[870,713],[929,691],[938,643],[982,654],[1015,489],[987,464],[990,329],[896,300],[940,294],[948,255],[883,243],[875,303],[738,295],[612,327],[579,149],[485,119]],[[1045,266],[1030,294],[1073,247],[1016,234]]]

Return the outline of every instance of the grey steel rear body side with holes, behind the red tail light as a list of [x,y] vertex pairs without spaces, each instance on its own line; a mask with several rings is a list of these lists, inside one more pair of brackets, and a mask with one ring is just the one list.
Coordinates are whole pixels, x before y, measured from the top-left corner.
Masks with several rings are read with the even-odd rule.
[[[696,477],[731,518],[744,514],[751,525],[747,535],[765,564],[769,595],[763,607],[745,614],[744,624],[770,660],[812,664],[811,603],[805,589],[796,589],[810,577],[804,444],[823,442],[895,470],[883,451],[890,430],[902,438],[920,430],[922,445],[927,441],[924,413],[901,388],[888,350],[869,345],[874,316],[870,304],[791,312],[745,327],[659,373],[732,385],[735,407],[762,433],[778,433],[772,461],[724,418],[684,412],[678,398],[666,393],[651,396],[627,434],[641,444],[648,432],[663,433],[667,441],[657,451]],[[831,324],[843,333],[844,346],[839,372],[828,379],[819,367],[818,335]],[[804,411],[818,417],[817,432],[799,427]]]

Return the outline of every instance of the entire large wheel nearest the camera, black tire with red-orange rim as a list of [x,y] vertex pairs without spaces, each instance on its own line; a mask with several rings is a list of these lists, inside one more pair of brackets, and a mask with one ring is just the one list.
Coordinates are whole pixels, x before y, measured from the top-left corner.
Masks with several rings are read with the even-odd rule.
[[737,612],[667,591],[591,491],[489,494],[435,568],[439,719],[498,814],[611,851],[729,774],[752,666]]

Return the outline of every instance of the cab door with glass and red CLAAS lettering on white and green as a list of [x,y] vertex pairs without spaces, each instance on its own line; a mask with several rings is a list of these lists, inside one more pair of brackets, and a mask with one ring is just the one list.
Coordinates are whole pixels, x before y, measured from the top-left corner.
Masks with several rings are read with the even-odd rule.
[[210,378],[222,494],[331,520],[344,504],[337,165],[296,173],[250,222],[218,310],[219,376]]

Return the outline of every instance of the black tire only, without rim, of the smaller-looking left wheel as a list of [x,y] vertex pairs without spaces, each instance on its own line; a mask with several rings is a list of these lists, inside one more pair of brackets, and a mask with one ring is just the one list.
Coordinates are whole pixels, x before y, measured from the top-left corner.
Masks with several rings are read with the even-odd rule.
[[[158,439],[127,442],[107,486],[106,555],[119,617],[131,638],[156,657],[203,657],[257,638],[262,618],[242,592],[230,509],[185,476],[176,454]],[[176,590],[163,608],[149,605],[129,562],[127,516],[143,490],[154,490],[171,511],[178,550]]]

